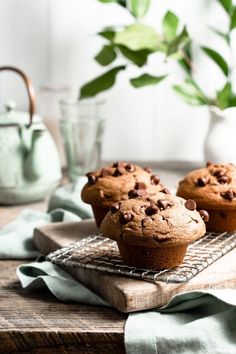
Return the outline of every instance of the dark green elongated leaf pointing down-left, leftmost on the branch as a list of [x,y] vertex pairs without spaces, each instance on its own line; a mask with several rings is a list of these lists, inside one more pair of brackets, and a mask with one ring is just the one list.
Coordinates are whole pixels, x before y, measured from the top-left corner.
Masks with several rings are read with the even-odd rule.
[[80,89],[80,99],[93,97],[102,91],[110,89],[115,83],[117,74],[125,68],[124,65],[117,66],[83,85]]

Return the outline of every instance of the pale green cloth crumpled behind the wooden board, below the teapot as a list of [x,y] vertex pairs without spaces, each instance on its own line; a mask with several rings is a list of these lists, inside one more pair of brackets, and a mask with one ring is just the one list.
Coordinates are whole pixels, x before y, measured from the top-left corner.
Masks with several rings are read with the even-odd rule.
[[51,222],[79,221],[92,216],[92,209],[81,197],[86,178],[58,188],[49,201],[48,213],[25,209],[0,230],[0,259],[30,259],[38,255],[32,236],[35,227]]

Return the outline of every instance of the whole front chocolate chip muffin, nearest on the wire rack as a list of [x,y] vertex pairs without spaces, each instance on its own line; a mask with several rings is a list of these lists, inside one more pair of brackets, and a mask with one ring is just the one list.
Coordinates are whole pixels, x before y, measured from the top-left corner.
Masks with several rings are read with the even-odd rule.
[[182,263],[188,244],[205,231],[193,200],[161,192],[111,206],[101,225],[103,235],[117,241],[125,264],[155,270]]

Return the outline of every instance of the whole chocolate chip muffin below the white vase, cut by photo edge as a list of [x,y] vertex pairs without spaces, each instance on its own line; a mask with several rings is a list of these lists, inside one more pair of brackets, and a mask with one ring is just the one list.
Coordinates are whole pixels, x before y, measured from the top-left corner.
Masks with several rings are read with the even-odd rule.
[[233,164],[208,162],[205,168],[187,174],[179,183],[177,195],[192,198],[198,209],[207,210],[208,231],[236,230],[236,167]]

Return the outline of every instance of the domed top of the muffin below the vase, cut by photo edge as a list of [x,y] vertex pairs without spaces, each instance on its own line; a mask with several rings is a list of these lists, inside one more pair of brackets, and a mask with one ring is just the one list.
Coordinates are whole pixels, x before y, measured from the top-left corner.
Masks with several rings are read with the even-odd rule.
[[177,195],[194,199],[200,208],[235,210],[236,167],[208,162],[205,168],[190,172],[179,182]]

